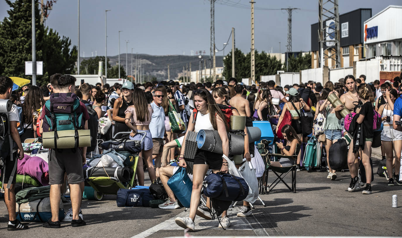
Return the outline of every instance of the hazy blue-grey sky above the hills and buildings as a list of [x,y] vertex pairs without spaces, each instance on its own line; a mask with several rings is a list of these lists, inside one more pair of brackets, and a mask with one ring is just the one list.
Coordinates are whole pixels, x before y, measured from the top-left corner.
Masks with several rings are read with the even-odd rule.
[[[44,0],[46,2],[46,0]],[[235,28],[236,47],[250,51],[250,0],[216,0],[215,44],[222,49]],[[372,8],[372,15],[401,0],[339,0],[339,13]],[[292,13],[292,51],[310,50],[310,25],[318,22],[318,0],[257,0],[254,4],[255,49],[285,52],[287,11]],[[0,0],[0,20],[8,16],[9,6]],[[107,53],[128,52],[150,55],[190,55],[205,51],[209,55],[209,0],[80,0],[80,56],[105,55],[105,10],[107,12]],[[46,25],[78,44],[78,0],[53,3]],[[280,42],[280,43],[279,43]],[[280,45],[280,48],[279,48]],[[225,49],[232,47],[232,40]],[[217,54],[222,54],[219,52]]]

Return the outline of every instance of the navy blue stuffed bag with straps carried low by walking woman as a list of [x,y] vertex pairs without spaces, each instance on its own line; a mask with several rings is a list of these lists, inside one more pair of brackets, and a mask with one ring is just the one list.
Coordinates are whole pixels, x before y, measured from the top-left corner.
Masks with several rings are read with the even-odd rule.
[[248,195],[244,178],[232,174],[209,174],[203,186],[205,196],[223,201],[243,201]]

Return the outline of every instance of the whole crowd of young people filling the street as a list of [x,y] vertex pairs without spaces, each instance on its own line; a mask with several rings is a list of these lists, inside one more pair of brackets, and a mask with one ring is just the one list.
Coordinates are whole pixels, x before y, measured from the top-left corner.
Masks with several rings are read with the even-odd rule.
[[[381,131],[381,152],[383,159],[386,159],[386,176],[388,185],[402,185],[399,180],[400,155],[402,151],[402,127],[397,124],[402,117],[402,98],[400,96],[401,79],[394,78],[394,82],[384,82],[380,85],[379,80],[366,83],[366,76],[361,75],[355,78],[348,75],[341,78],[339,82],[328,81],[324,85],[319,82],[308,81],[305,84],[276,85],[274,81],[259,82],[250,86],[239,84],[235,78],[227,81],[217,80],[216,82],[194,83],[187,85],[170,80],[168,82],[146,82],[145,84],[133,84],[126,81],[123,84],[114,85],[99,82],[96,85],[83,83],[76,85],[76,79],[70,75],[54,74],[50,82],[43,87],[24,86],[20,90],[12,91],[10,78],[1,76],[0,98],[10,99],[13,103],[12,110],[8,113],[10,121],[10,133],[12,140],[16,142],[17,148],[12,156],[24,157],[21,142],[27,138],[38,138],[41,140],[43,133],[44,113],[42,108],[52,94],[74,93],[80,100],[80,110],[83,112],[84,128],[88,128],[88,113],[93,110],[97,118],[107,117],[112,126],[102,139],[109,140],[119,132],[129,132],[130,139],[141,140],[140,158],[137,164],[137,181],[144,185],[144,166],[148,170],[149,178],[154,181],[160,178],[168,199],[159,205],[162,209],[178,208],[178,202],[174,194],[167,186],[167,180],[178,166],[187,167],[184,160],[185,136],[189,131],[198,132],[201,129],[213,129],[219,132],[222,140],[223,154],[197,150],[194,158],[191,179],[193,181],[193,193],[191,194],[191,206],[189,217],[177,217],[176,223],[183,227],[194,230],[195,216],[199,215],[211,219],[211,207],[199,206],[201,188],[204,176],[208,169],[212,172],[228,172],[227,160],[229,156],[228,122],[222,108],[230,108],[233,115],[246,116],[246,126],[252,126],[252,121],[270,121],[273,131],[281,133],[285,141],[276,144],[282,154],[293,155],[296,152],[296,144],[306,143],[310,137],[317,136],[313,132],[305,135],[301,123],[301,115],[308,113],[316,121],[319,113],[326,118],[324,125],[323,147],[326,150],[328,176],[331,180],[336,179],[336,170],[333,170],[328,162],[329,150],[333,143],[343,137],[347,130],[344,128],[344,119],[340,111],[345,107],[349,111],[357,113],[357,123],[361,125],[361,135],[364,135],[363,142],[356,145],[356,136],[349,146],[347,165],[351,174],[351,183],[348,191],[352,192],[361,189],[363,194],[371,193],[371,145],[376,140],[373,133],[374,110],[381,115],[381,122],[384,129]],[[334,107],[328,100],[330,94],[336,94],[343,105]],[[172,133],[169,122],[169,112],[177,111],[180,118],[186,124],[186,129],[180,134]],[[290,113],[291,123],[285,125],[279,131],[277,125],[281,125],[285,115]],[[90,113],[92,115],[92,113]],[[95,115],[94,114],[94,115]],[[311,125],[313,127],[313,125]],[[254,156],[254,143],[249,143],[245,129],[243,158],[250,161]],[[145,134],[144,139],[142,140]],[[359,137],[357,137],[359,138]],[[90,156],[86,147],[80,150],[51,150],[49,153],[49,184],[51,185],[51,201],[57,201],[62,194],[62,184],[65,183],[64,172],[67,174],[67,181],[70,187],[72,201],[72,225],[85,225],[82,219],[80,203],[84,187],[84,175],[82,164],[86,163],[87,156]],[[258,152],[257,152],[258,153]],[[302,154],[297,151],[297,160],[281,159],[272,162],[273,166],[291,166],[297,164],[297,170],[302,170],[300,160]],[[176,156],[177,155],[177,156]],[[72,158],[75,158],[72,159]],[[366,171],[366,186],[359,181],[359,160],[362,161]],[[13,163],[7,158],[6,164]],[[178,161],[178,166],[170,166]],[[234,161],[236,165],[241,161]],[[145,163],[145,164],[144,164]],[[5,180],[12,177],[11,166],[2,171]],[[15,178],[14,178],[15,180]],[[15,183],[15,181],[9,181]],[[13,186],[5,188],[5,201],[9,211],[8,230],[27,229],[15,217],[15,194]],[[14,198],[13,198],[14,196]],[[53,204],[54,203],[54,204]],[[58,212],[53,211],[52,218],[43,226],[59,228]],[[252,214],[250,204],[246,201],[237,214],[239,217],[246,217]],[[227,213],[222,213],[220,227],[230,226]]]

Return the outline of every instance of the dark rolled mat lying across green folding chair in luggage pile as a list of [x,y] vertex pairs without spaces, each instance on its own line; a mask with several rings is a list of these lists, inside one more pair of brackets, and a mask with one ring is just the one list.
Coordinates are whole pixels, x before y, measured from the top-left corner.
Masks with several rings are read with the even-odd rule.
[[131,180],[134,170],[128,167],[88,167],[84,170],[84,176],[89,177],[114,177],[122,183]]

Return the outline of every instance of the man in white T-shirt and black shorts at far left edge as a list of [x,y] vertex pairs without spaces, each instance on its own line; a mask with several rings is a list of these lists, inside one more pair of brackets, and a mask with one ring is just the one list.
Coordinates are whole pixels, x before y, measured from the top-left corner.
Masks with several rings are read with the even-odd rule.
[[[12,92],[13,82],[6,76],[0,76],[0,99],[9,99]],[[15,105],[12,105],[11,111],[8,113],[0,114],[1,121],[0,135],[0,157],[3,163],[1,169],[1,181],[3,183],[2,189],[4,189],[4,202],[6,203],[8,211],[8,226],[7,230],[26,230],[28,226],[21,224],[16,219],[15,214],[15,177],[17,174],[17,158],[24,158],[24,150],[21,144],[20,135],[17,130],[17,122],[19,122],[18,110]],[[8,133],[10,131],[10,133]],[[11,140],[11,138],[12,140]],[[10,143],[14,141],[16,146],[20,150],[17,154],[17,150],[10,146]],[[12,148],[12,151],[10,149]]]

